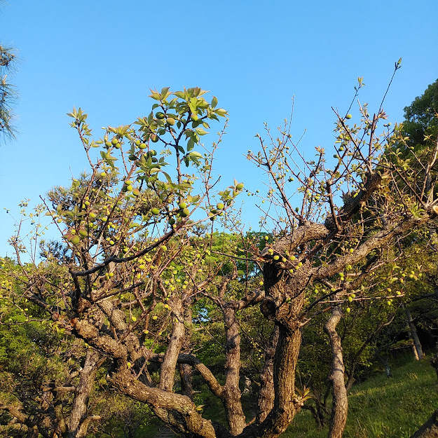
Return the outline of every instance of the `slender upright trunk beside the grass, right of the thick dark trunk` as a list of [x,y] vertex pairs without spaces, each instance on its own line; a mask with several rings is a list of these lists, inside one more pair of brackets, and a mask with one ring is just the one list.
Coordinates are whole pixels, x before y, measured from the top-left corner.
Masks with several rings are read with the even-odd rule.
[[324,325],[324,331],[329,336],[331,348],[331,372],[329,379],[333,388],[329,438],[341,438],[343,436],[348,414],[348,397],[347,389],[345,388],[345,367],[343,364],[341,338],[336,332],[336,326],[341,317],[342,310],[340,306],[336,306],[331,310],[331,316]]

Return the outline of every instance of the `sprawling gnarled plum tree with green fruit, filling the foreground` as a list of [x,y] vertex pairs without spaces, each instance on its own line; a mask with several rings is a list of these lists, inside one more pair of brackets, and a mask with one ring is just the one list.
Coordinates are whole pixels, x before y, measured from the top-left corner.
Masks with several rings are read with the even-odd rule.
[[[223,131],[210,151],[198,151],[210,123],[226,116],[215,97],[204,96],[200,88],[153,91],[148,116],[107,128],[98,140],[81,109],[69,114],[90,172],[49,193],[48,214],[63,242],[46,245],[45,266],[22,264],[20,236],[11,240],[22,296],[106,361],[112,388],[174,430],[205,438],[275,438],[286,430],[309,397],[295,382],[303,327],[325,313],[334,388],[329,436],[341,437],[348,400],[336,325],[344,308],[400,299],[389,278],[373,275],[394,261],[396,240],[437,217],[430,196],[437,153],[428,165],[407,161],[397,148],[406,143],[402,132],[380,130],[383,109],[370,116],[366,105],[357,123],[335,113],[334,160],[320,146],[315,160],[304,159],[288,123],[278,137],[267,130],[248,158],[268,178],[268,239],[245,235],[230,214],[243,183],[214,192],[212,153]],[[205,225],[229,216],[231,237]],[[212,351],[220,356],[209,367]],[[206,418],[193,374],[223,406],[227,427]],[[249,420],[241,376],[259,386]]]

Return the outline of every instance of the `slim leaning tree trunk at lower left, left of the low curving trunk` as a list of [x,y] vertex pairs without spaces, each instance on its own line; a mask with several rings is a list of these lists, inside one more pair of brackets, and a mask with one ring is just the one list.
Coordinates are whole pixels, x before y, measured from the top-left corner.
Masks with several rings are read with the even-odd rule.
[[69,438],[86,437],[90,419],[97,419],[88,417],[88,399],[93,390],[99,359],[100,354],[97,351],[88,350],[71,408],[67,434]]

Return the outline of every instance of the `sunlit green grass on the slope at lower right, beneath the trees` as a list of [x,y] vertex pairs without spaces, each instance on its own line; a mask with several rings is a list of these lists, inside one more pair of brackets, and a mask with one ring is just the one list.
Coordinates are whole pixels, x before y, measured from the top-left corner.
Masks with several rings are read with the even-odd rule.
[[[437,374],[428,360],[409,362],[353,386],[344,438],[409,438],[438,408]],[[325,438],[309,411],[299,413],[282,438]]]

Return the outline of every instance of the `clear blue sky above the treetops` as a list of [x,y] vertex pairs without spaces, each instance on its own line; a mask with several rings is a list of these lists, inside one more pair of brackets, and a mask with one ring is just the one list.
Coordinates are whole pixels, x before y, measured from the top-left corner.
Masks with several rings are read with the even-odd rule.
[[[13,233],[3,208],[16,214],[23,198],[38,203],[85,169],[65,115],[74,105],[98,136],[104,125],[148,114],[149,88],[211,90],[230,114],[217,171],[224,183],[235,177],[255,190],[260,174],[244,154],[265,121],[275,128],[289,116],[292,96],[303,149],[329,146],[331,106],[345,111],[363,76],[360,99],[377,109],[402,57],[384,106],[390,121],[402,121],[403,108],[438,78],[437,16],[434,0],[1,4],[0,39],[20,58],[20,99],[17,139],[0,146],[0,255],[11,254]],[[258,212],[248,205],[244,219],[256,226]]]

